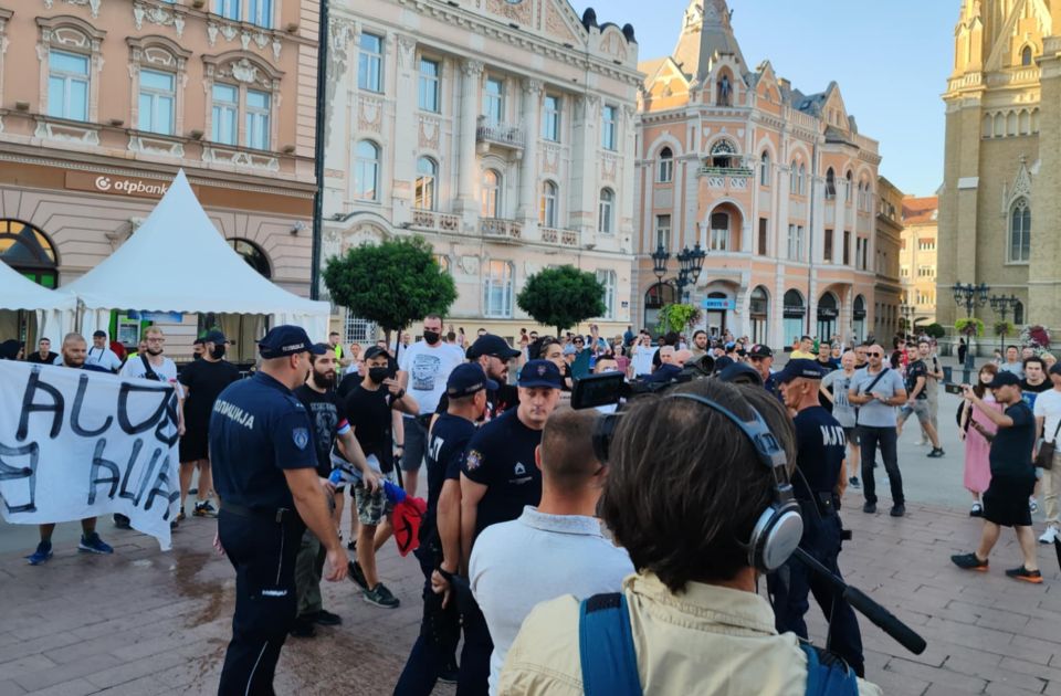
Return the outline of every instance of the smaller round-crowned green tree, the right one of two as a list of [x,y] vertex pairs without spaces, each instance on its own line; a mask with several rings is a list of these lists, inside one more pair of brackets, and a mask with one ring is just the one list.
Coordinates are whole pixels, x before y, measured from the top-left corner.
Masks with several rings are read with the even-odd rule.
[[605,314],[605,286],[597,276],[575,266],[545,268],[527,278],[516,305],[557,335],[579,321]]

